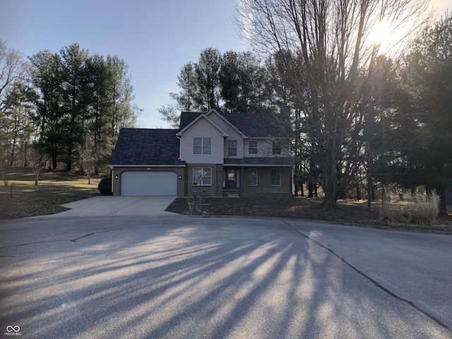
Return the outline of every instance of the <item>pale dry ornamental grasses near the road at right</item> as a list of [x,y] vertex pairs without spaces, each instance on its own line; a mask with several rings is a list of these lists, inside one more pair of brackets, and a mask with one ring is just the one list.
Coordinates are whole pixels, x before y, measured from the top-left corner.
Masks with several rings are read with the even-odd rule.
[[384,202],[380,206],[380,219],[387,222],[433,225],[439,213],[439,196],[412,196],[409,201]]

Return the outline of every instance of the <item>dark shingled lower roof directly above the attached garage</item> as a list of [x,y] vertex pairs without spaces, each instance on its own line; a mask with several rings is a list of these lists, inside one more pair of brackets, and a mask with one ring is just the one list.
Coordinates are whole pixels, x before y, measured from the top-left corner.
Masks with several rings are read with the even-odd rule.
[[177,129],[121,129],[109,165],[184,165]]

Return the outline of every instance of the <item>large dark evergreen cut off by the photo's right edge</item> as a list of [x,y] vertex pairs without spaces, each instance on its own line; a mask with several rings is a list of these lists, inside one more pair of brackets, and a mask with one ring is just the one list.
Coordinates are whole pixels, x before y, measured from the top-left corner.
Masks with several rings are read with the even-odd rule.
[[445,190],[452,187],[452,17],[427,28],[412,45],[403,69],[410,95],[416,147],[402,148],[418,182],[435,189],[446,213]]

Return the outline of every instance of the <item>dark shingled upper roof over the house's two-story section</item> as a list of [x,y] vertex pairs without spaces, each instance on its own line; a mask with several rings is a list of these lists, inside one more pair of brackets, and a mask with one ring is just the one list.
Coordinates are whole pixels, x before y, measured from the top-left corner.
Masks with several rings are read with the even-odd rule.
[[[193,123],[200,112],[182,112],[180,130]],[[283,114],[270,113],[219,113],[248,138],[292,138],[290,121]]]

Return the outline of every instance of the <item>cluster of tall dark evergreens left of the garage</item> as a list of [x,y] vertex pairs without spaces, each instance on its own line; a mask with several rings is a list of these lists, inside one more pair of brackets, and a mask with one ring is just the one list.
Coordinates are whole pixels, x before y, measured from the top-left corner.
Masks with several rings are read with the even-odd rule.
[[117,56],[90,55],[78,44],[59,54],[38,52],[30,62],[37,93],[32,119],[52,167],[64,162],[67,170],[82,168],[85,134],[99,153],[97,166],[104,167],[120,129],[133,126],[140,112],[132,104],[127,64]]

